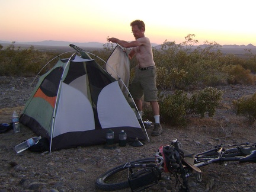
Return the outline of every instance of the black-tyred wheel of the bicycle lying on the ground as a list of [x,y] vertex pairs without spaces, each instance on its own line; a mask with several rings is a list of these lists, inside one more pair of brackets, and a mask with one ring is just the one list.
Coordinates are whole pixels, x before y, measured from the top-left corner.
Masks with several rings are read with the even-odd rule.
[[[155,158],[144,158],[130,162],[130,165],[134,164],[152,164],[155,163]],[[128,168],[124,167],[126,164],[119,165],[104,174],[96,180],[96,187],[104,191],[121,190],[129,187],[128,181]],[[137,169],[137,170],[136,170]],[[139,171],[142,168],[135,168],[133,171]]]

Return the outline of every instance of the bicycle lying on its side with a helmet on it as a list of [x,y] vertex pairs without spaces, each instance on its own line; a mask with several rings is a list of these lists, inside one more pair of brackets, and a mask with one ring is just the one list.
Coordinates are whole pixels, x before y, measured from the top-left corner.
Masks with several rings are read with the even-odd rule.
[[[219,145],[195,155],[181,148],[181,143],[175,139],[171,145],[161,146],[155,157],[126,162],[110,169],[100,175],[95,184],[104,191],[129,187],[132,191],[141,191],[158,184],[159,180],[174,177],[179,191],[189,191],[188,178],[191,175],[196,174],[197,181],[202,181],[200,167],[226,162],[256,163],[256,143]],[[163,177],[164,174],[167,177]]]

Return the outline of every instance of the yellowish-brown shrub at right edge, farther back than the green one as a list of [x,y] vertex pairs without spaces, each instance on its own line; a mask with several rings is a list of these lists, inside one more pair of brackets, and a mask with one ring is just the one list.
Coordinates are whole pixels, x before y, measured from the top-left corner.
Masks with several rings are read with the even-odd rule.
[[225,70],[228,73],[229,84],[254,85],[255,77],[249,69],[244,69],[241,65],[229,65]]

